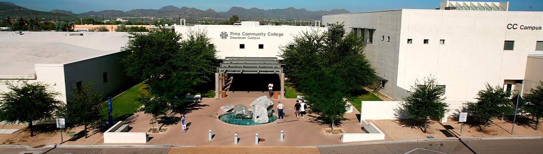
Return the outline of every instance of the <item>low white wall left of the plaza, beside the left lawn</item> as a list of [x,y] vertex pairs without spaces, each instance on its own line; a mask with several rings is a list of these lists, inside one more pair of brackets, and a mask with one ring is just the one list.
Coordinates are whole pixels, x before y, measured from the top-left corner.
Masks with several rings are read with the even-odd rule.
[[146,132],[115,132],[123,125],[117,122],[104,132],[104,143],[147,143],[149,135]]

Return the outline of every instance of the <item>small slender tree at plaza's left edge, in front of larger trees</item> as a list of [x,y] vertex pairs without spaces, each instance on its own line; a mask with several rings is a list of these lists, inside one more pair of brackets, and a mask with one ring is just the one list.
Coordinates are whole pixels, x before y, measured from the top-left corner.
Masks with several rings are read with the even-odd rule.
[[159,117],[166,114],[168,110],[168,100],[162,97],[146,97],[141,94],[136,101],[143,104],[143,107],[140,108],[140,111],[143,113],[150,114],[156,121],[156,130],[160,131],[159,127]]

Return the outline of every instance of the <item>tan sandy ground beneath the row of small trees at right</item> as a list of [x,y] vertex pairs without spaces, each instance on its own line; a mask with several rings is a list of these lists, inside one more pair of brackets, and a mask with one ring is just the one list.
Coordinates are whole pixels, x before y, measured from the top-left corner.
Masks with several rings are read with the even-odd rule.
[[513,117],[493,119],[484,132],[478,131],[479,126],[473,123],[473,117],[468,117],[464,123],[462,136],[460,136],[460,127],[462,123],[457,118],[449,118],[446,123],[439,123],[432,120],[427,126],[427,133],[424,130],[424,123],[416,123],[411,119],[405,120],[368,120],[373,122],[392,140],[404,139],[426,139],[427,136],[434,138],[485,138],[485,137],[529,137],[543,136],[543,130],[535,130],[535,123],[529,118],[519,116],[515,121],[515,129],[511,134],[513,127]]

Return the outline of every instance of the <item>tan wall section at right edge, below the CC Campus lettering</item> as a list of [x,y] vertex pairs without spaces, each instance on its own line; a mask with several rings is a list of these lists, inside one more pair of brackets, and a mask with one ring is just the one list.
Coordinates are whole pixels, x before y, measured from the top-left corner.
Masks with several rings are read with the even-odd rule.
[[543,56],[528,56],[526,62],[526,74],[522,93],[529,93],[531,88],[538,86],[543,80]]

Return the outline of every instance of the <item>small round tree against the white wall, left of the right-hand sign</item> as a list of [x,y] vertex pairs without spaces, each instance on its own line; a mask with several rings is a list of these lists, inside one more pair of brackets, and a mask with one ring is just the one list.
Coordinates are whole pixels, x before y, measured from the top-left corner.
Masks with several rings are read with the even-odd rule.
[[440,119],[449,111],[449,104],[445,100],[445,87],[437,86],[438,82],[432,76],[425,78],[423,83],[415,80],[411,86],[411,95],[404,99],[403,107],[413,119],[424,120],[424,133],[428,118]]

